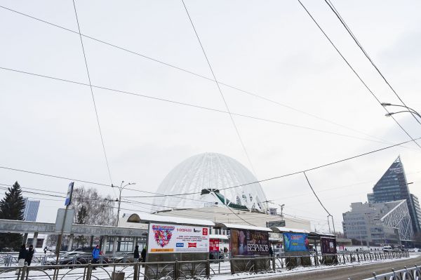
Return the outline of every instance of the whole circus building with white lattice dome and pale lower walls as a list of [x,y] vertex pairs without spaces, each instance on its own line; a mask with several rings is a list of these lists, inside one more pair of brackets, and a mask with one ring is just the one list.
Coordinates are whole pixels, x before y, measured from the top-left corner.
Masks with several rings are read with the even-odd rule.
[[[309,220],[269,208],[262,186],[246,166],[224,154],[203,153],[175,166],[156,191],[155,214],[266,227],[310,230]],[[217,232],[222,233],[222,232]]]

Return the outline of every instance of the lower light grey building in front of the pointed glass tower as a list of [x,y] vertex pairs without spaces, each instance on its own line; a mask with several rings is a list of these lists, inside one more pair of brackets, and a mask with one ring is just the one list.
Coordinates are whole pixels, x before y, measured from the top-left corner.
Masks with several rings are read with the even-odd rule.
[[362,244],[408,244],[413,241],[413,227],[406,200],[379,204],[356,202],[343,213],[342,226],[349,239]]

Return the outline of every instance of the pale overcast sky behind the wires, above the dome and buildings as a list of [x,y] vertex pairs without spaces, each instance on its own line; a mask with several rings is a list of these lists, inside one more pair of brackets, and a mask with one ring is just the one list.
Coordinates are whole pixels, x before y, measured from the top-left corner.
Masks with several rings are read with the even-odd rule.
[[[345,65],[296,0],[185,1],[217,79],[280,104],[221,86],[258,179],[271,178],[409,140]],[[72,1],[5,1],[1,6],[77,31]],[[399,103],[322,0],[314,18],[382,102]],[[420,1],[333,1],[399,96],[421,109]],[[81,33],[211,78],[181,1],[76,1]],[[0,8],[0,67],[88,84],[79,34]],[[225,111],[215,83],[83,38],[91,82]],[[218,152],[250,168],[229,115],[94,88],[114,184],[156,191],[189,156]],[[288,109],[287,105],[302,112]],[[413,138],[421,126],[396,115]],[[0,69],[0,166],[109,184],[88,86]],[[290,126],[290,125],[294,126]],[[318,131],[295,126],[305,126]],[[322,132],[324,131],[324,132]],[[420,142],[421,144],[421,142]],[[366,201],[399,154],[421,196],[414,143],[307,173],[340,228],[349,204]],[[0,183],[66,192],[68,180],[0,169]],[[111,188],[96,187],[116,196]],[[302,174],[262,183],[284,212],[326,227],[326,213]],[[125,191],[125,196],[140,195]],[[38,220],[63,204],[42,197]],[[149,200],[145,200],[149,201]],[[150,202],[150,201],[149,201]],[[122,204],[147,210],[148,206]],[[123,211],[129,212],[129,211]]]

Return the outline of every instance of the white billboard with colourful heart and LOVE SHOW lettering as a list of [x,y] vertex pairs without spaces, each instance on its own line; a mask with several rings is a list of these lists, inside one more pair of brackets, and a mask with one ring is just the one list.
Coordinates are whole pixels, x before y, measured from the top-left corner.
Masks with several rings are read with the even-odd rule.
[[208,227],[149,224],[148,253],[208,253]]

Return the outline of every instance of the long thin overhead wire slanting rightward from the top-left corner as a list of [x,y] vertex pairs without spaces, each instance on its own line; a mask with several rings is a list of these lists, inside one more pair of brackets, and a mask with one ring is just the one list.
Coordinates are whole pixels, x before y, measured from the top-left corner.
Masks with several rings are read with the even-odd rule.
[[[112,48],[119,49],[120,51],[125,51],[125,52],[127,52],[127,53],[131,53],[132,55],[137,55],[137,56],[139,56],[139,57],[141,57],[141,58],[145,58],[145,59],[147,59],[147,60],[154,61],[154,62],[159,63],[159,64],[161,64],[161,65],[164,65],[164,66],[166,66],[166,67],[171,67],[171,68],[173,68],[173,69],[177,69],[177,70],[179,70],[179,71],[181,71],[181,72],[185,72],[185,73],[187,73],[187,74],[192,74],[193,76],[199,77],[199,78],[201,78],[201,79],[206,79],[206,80],[208,80],[208,81],[213,81],[213,82],[215,82],[215,80],[213,80],[213,79],[211,79],[211,78],[208,78],[207,76],[203,76],[203,75],[201,75],[201,74],[197,74],[196,72],[192,72],[192,71],[190,71],[190,70],[188,70],[188,69],[184,69],[184,68],[182,68],[182,67],[178,67],[178,66],[176,66],[176,65],[172,65],[171,63],[164,62],[164,61],[162,61],[162,60],[158,60],[158,59],[156,59],[156,58],[149,57],[149,56],[147,56],[147,55],[144,55],[144,54],[142,54],[142,53],[138,53],[138,52],[133,51],[133,50],[129,50],[128,48],[124,48],[124,47],[122,47],[122,46],[117,46],[117,45],[112,44],[112,43],[109,43],[109,42],[107,42],[107,41],[103,41],[103,40],[100,40],[100,39],[98,39],[98,38],[94,38],[93,36],[88,36],[88,35],[86,35],[86,34],[81,34],[81,33],[79,33],[79,32],[76,32],[76,31],[72,30],[72,29],[68,29],[68,28],[66,28],[66,27],[63,27],[63,26],[61,26],[61,25],[56,25],[56,24],[55,24],[55,23],[53,23],[53,22],[48,22],[47,20],[42,20],[41,18],[36,18],[36,17],[34,17],[34,16],[32,16],[32,15],[28,15],[27,13],[22,13],[22,12],[20,12],[20,11],[15,11],[15,10],[13,10],[13,9],[11,9],[11,8],[8,8],[8,7],[5,7],[5,6],[0,6],[0,8],[4,8],[4,9],[5,9],[5,10],[7,10],[7,11],[10,11],[10,12],[16,13],[16,14],[18,14],[18,15],[25,16],[25,17],[27,17],[27,18],[31,18],[32,20],[36,20],[36,21],[39,21],[39,22],[43,22],[43,23],[45,23],[46,25],[51,25],[51,26],[53,26],[53,27],[57,27],[57,28],[62,29],[62,30],[64,30],[64,31],[66,31],[66,32],[72,32],[72,33],[74,33],[74,34],[80,34],[81,36],[83,36],[83,37],[85,37],[85,38],[88,38],[88,39],[91,39],[91,40],[93,40],[93,41],[97,41],[97,42],[98,42],[98,43],[100,43],[100,44],[105,44],[105,45],[110,46],[110,47],[112,47]],[[349,131],[354,131],[354,132],[356,132],[356,133],[361,133],[362,135],[366,135],[366,136],[368,136],[368,137],[370,137],[370,138],[375,138],[375,139],[377,139],[377,140],[382,140],[382,141],[385,141],[384,139],[382,139],[382,138],[378,138],[378,137],[377,137],[377,136],[375,136],[375,135],[369,135],[368,133],[364,133],[364,132],[359,131],[359,130],[357,130],[357,129],[350,128],[350,127],[348,127],[348,126],[344,126],[344,125],[342,125],[342,124],[338,124],[338,123],[336,123],[335,121],[330,121],[329,119],[324,119],[324,118],[322,118],[321,116],[316,116],[315,114],[311,114],[311,113],[309,113],[309,112],[302,111],[302,110],[297,109],[297,108],[295,108],[295,107],[291,107],[291,106],[289,106],[289,105],[285,105],[285,104],[283,104],[283,103],[281,103],[281,102],[279,102],[279,101],[272,100],[272,99],[270,99],[270,98],[266,98],[266,97],[264,97],[264,96],[262,96],[262,95],[258,95],[258,94],[256,94],[256,93],[252,93],[252,92],[250,92],[250,91],[246,91],[246,90],[241,89],[241,88],[239,88],[239,87],[237,87],[237,86],[232,86],[232,85],[229,85],[229,84],[225,84],[225,83],[223,83],[223,82],[221,82],[221,81],[218,81],[218,83],[219,83],[220,85],[222,85],[222,86],[226,86],[226,87],[228,87],[228,88],[232,88],[232,89],[234,89],[234,90],[236,90],[236,91],[239,91],[239,92],[241,92],[241,93],[244,93],[244,94],[247,94],[247,95],[253,96],[253,97],[255,97],[255,98],[260,98],[260,99],[265,100],[265,101],[267,101],[267,102],[272,102],[272,103],[274,103],[275,105],[279,105],[279,106],[281,106],[281,107],[285,107],[285,108],[291,109],[291,110],[293,110],[293,111],[295,111],[295,112],[299,112],[299,113],[301,113],[301,114],[305,114],[305,115],[307,115],[307,116],[311,116],[312,118],[319,119],[319,120],[321,120],[321,121],[325,121],[325,122],[327,122],[327,123],[329,123],[329,124],[333,124],[333,125],[335,125],[335,126],[340,126],[340,127],[342,127],[342,128],[346,128],[346,129],[348,129]]]

